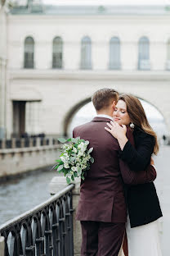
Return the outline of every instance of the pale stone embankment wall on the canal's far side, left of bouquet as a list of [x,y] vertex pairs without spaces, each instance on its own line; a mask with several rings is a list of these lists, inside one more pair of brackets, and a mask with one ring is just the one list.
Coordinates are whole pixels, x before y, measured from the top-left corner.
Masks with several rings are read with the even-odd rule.
[[0,149],[0,180],[55,164],[59,144],[19,149]]

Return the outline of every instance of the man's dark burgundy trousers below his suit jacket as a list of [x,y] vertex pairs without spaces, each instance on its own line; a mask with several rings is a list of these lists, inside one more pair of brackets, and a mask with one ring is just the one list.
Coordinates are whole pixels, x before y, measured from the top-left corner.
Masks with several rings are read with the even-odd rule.
[[125,223],[82,221],[81,256],[118,256]]

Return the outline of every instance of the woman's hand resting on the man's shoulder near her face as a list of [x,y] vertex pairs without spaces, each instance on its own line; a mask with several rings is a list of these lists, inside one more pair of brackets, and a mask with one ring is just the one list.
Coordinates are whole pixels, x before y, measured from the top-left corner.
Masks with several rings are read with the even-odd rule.
[[119,126],[119,124],[115,121],[110,121],[110,123],[107,122],[107,126],[105,127],[105,130],[109,131],[112,136],[114,136],[115,139],[122,138],[123,136],[126,136],[127,133],[127,126]]

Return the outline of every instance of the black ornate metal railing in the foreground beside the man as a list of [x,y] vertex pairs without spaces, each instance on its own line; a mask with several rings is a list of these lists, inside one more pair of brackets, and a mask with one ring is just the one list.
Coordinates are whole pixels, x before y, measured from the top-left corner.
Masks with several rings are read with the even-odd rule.
[[[0,226],[5,256],[73,256],[74,185]],[[17,206],[16,206],[17,207]]]

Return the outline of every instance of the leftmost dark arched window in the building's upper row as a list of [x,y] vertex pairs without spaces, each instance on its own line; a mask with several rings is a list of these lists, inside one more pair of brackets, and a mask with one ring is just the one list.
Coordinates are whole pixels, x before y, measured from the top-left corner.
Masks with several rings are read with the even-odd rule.
[[34,68],[34,39],[28,36],[25,39],[25,68]]

